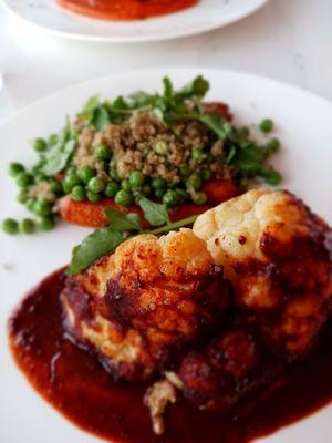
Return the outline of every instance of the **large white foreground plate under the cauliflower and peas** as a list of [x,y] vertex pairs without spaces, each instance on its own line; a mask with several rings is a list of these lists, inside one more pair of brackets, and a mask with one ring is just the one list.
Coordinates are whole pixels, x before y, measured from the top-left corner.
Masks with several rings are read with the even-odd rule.
[[[332,105],[293,86],[230,71],[164,69],[137,71],[94,80],[44,99],[0,127],[0,219],[24,214],[15,203],[17,187],[6,174],[10,161],[33,162],[28,141],[58,131],[66,114],[74,114],[100,92],[112,97],[133,89],[155,91],[169,75],[181,85],[203,73],[211,83],[208,99],[231,105],[238,121],[269,116],[283,142],[277,158],[283,185],[297,193],[328,222],[332,222]],[[64,265],[86,229],[62,225],[52,233],[10,237],[0,233],[0,441],[3,443],[84,443],[98,441],[66,422],[27,383],[7,349],[6,321],[13,306],[39,279]],[[13,265],[6,271],[4,264]],[[332,408],[266,439],[269,443],[331,442]]]

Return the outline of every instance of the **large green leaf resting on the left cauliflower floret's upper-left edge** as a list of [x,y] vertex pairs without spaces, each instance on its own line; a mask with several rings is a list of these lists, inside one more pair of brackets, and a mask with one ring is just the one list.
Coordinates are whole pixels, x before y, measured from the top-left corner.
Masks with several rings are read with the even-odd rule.
[[75,276],[82,272],[98,258],[114,250],[123,240],[124,236],[111,228],[95,230],[73,249],[71,265],[66,274]]

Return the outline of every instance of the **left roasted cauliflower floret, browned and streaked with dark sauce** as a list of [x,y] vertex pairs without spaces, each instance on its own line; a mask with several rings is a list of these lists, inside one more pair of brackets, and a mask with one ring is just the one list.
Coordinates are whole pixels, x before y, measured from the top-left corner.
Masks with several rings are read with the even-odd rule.
[[167,368],[218,326],[229,286],[206,243],[190,229],[141,235],[68,279],[68,322],[93,344],[112,371],[145,379]]

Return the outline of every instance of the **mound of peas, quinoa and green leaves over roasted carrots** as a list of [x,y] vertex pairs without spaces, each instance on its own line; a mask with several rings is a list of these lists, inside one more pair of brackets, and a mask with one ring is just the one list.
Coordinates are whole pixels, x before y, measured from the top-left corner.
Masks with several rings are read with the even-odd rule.
[[[33,166],[10,164],[18,200],[48,230],[59,216],[106,226],[105,208],[143,215],[146,198],[163,203],[176,222],[243,193],[252,182],[277,185],[281,175],[269,164],[280,145],[270,136],[273,122],[264,119],[258,130],[232,123],[226,104],[205,101],[208,89],[203,76],[179,91],[166,78],[162,93],[91,97],[59,134],[33,141]],[[8,219],[3,228],[31,233],[35,220]]]

